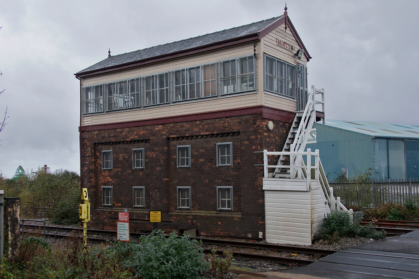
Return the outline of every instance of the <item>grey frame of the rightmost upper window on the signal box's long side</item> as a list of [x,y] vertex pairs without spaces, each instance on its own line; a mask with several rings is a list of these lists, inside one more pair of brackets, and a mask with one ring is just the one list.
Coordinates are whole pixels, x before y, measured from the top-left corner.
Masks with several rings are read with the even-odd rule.
[[[252,71],[249,71],[249,61],[252,61]],[[244,72],[242,67],[242,61],[246,60],[247,65],[246,69],[247,71]],[[226,68],[224,67],[226,64],[229,64],[228,66],[228,73],[226,73]],[[233,93],[240,93],[240,92],[248,92],[248,91],[255,91],[256,90],[256,63],[254,55],[245,55],[240,56],[236,58],[229,58],[226,60],[222,60],[218,62],[219,64],[219,92],[220,95],[228,95]],[[234,65],[232,65],[234,64]],[[227,76],[228,74],[228,76]],[[250,77],[253,77],[252,80],[250,80]],[[247,80],[246,87],[243,89],[243,80]],[[226,81],[229,81],[229,85],[224,85]],[[233,83],[233,84],[232,84]],[[253,84],[253,87],[249,87],[250,84]],[[230,87],[234,87],[232,90],[230,90]]]

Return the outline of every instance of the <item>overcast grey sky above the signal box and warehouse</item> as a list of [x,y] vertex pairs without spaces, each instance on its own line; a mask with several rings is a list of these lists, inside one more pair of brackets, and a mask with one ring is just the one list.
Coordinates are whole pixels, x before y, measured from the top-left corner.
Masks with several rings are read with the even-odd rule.
[[[282,15],[278,0],[0,0],[0,171],[80,173],[79,81],[108,55]],[[419,124],[419,1],[288,0],[326,119]],[[2,118],[1,118],[2,119]]]

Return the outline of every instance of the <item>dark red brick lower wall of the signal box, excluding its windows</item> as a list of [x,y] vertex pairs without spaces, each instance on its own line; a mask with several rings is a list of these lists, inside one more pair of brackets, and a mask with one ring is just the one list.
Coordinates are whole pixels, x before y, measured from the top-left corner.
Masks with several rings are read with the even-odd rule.
[[[261,113],[196,121],[80,132],[81,182],[89,189],[91,221],[116,230],[128,209],[132,232],[150,231],[150,211],[162,212],[159,229],[197,229],[199,235],[257,238],[265,231],[262,154],[281,151],[290,123],[267,129]],[[122,126],[122,125],[121,125]],[[216,144],[232,143],[232,165],[217,166]],[[191,146],[191,166],[177,167],[177,146]],[[144,169],[133,169],[133,148],[144,148]],[[102,170],[102,150],[113,168]],[[113,186],[112,206],[102,206],[102,186]],[[133,187],[145,187],[144,208],[133,207]],[[178,209],[177,187],[191,187],[191,208]],[[217,210],[217,186],[232,186],[232,210]]]

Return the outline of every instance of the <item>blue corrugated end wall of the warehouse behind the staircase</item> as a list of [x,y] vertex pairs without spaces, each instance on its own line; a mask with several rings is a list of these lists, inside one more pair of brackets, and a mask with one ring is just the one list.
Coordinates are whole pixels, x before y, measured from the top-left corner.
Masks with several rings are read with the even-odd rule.
[[319,149],[327,178],[333,181],[342,172],[347,171],[348,177],[364,173],[374,168],[373,146],[371,136],[329,127],[315,123],[316,142],[307,143],[306,148]]

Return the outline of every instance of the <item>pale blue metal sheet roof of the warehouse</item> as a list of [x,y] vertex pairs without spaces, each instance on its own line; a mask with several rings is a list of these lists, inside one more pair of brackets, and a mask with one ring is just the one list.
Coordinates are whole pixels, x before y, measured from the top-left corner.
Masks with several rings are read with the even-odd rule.
[[326,120],[324,125],[376,138],[419,139],[419,125],[342,120]]

